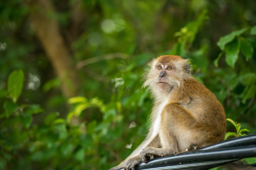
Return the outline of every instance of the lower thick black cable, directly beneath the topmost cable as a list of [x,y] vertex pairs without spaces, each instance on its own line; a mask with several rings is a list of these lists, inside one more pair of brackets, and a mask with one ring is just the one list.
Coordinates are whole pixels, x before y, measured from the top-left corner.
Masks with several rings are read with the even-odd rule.
[[[246,157],[256,157],[256,145],[253,147],[236,147],[220,150],[198,150],[178,154],[173,157],[161,157],[153,159],[147,164],[140,164],[139,169],[157,169],[158,167],[167,168],[166,166],[175,166],[175,169],[186,169],[211,164],[219,166],[218,163],[233,162]],[[213,166],[213,167],[214,167]],[[171,167],[169,167],[171,169]]]

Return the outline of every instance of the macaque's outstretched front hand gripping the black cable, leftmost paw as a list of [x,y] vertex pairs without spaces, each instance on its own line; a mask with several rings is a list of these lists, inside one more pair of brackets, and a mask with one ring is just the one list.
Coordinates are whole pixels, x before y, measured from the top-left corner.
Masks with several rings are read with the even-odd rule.
[[142,163],[142,159],[141,157],[137,156],[137,157],[132,157],[131,159],[127,159],[127,161],[122,162],[121,164],[119,164],[118,166],[115,166],[114,168],[110,169],[110,170],[117,170],[117,169],[124,169],[124,170],[135,170],[135,167]]

